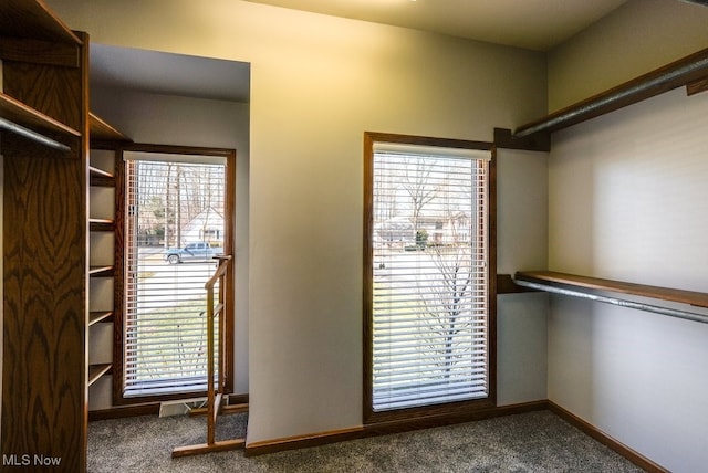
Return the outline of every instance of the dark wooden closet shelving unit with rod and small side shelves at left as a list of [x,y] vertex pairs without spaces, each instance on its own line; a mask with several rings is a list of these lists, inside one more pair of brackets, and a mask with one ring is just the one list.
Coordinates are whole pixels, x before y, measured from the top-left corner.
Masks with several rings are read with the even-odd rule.
[[[2,206],[3,462],[60,459],[86,471],[88,385],[110,372],[87,366],[88,135],[111,127],[88,114],[88,36],[71,31],[41,0],[0,2]],[[113,139],[113,138],[111,138]],[[95,181],[94,181],[95,179]],[[102,183],[98,183],[102,182]]]

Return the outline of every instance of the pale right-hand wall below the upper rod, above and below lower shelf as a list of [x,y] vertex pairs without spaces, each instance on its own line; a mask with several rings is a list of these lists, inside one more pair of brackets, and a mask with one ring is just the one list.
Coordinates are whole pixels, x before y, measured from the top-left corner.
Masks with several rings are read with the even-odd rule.
[[[707,117],[707,93],[676,90],[558,133],[550,269],[706,292]],[[562,296],[550,307],[549,399],[670,471],[705,470],[708,324]]]

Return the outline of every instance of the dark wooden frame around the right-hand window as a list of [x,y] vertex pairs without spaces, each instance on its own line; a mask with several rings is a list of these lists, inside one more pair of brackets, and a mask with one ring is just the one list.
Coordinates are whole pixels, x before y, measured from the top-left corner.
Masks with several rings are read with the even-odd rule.
[[[487,176],[487,307],[488,307],[488,396],[482,399],[455,401],[434,406],[374,411],[373,408],[373,230],[374,230],[374,144],[393,143],[418,146],[466,148],[488,150]],[[419,422],[424,418],[437,416],[461,416],[470,411],[490,409],[497,406],[497,150],[493,143],[471,141],[450,138],[435,138],[413,135],[364,132],[364,242],[363,242],[363,421],[376,424],[391,421]]]

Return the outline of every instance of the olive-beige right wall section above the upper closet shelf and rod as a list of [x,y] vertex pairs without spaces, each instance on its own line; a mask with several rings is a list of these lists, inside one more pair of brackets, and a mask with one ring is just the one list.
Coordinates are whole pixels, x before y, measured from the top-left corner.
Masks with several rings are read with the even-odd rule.
[[708,48],[708,8],[628,0],[549,54],[553,112]]

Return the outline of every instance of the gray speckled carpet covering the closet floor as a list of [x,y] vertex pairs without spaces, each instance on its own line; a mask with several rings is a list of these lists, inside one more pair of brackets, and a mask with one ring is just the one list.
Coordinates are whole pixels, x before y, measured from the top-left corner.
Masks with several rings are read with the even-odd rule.
[[[247,414],[219,418],[218,439],[242,437]],[[201,443],[205,418],[139,417],[88,424],[90,472],[641,472],[549,411],[243,456],[242,450],[171,459]]]

